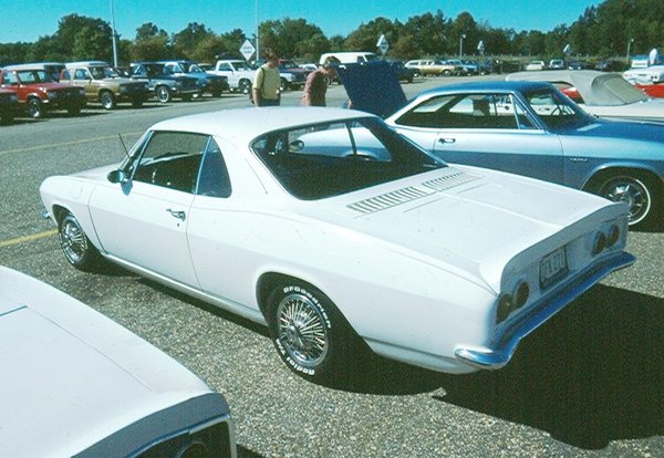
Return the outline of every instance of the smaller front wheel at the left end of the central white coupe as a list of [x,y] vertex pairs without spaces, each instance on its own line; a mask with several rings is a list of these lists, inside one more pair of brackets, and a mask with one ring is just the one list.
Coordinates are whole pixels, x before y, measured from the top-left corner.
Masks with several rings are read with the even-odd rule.
[[66,260],[79,270],[92,271],[98,266],[101,254],[92,244],[81,223],[68,212],[58,223],[60,248]]

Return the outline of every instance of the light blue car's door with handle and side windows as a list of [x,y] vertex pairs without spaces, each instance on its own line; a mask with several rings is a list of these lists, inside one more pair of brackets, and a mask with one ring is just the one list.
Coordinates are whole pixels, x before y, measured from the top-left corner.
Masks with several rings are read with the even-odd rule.
[[558,135],[540,128],[509,94],[432,97],[402,119],[419,127],[400,131],[450,164],[563,181]]

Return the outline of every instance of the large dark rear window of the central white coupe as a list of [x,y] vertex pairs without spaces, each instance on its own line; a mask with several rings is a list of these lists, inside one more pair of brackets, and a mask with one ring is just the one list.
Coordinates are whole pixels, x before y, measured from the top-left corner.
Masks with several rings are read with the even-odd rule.
[[305,200],[446,167],[373,117],[271,132],[251,147],[290,194]]

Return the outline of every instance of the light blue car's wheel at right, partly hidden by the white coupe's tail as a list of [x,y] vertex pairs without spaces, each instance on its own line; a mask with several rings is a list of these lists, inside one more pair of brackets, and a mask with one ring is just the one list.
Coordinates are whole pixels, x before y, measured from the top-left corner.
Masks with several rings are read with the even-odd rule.
[[656,218],[655,195],[660,192],[654,183],[640,174],[618,174],[601,180],[596,194],[615,202],[630,206],[630,227],[636,228],[654,222]]

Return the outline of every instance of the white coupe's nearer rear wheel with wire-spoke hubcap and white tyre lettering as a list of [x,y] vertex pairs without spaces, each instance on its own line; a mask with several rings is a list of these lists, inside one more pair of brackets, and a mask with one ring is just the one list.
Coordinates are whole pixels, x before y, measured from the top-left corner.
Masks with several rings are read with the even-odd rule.
[[361,341],[332,301],[315,288],[290,282],[272,291],[267,321],[286,365],[312,382],[349,374],[362,355]]

